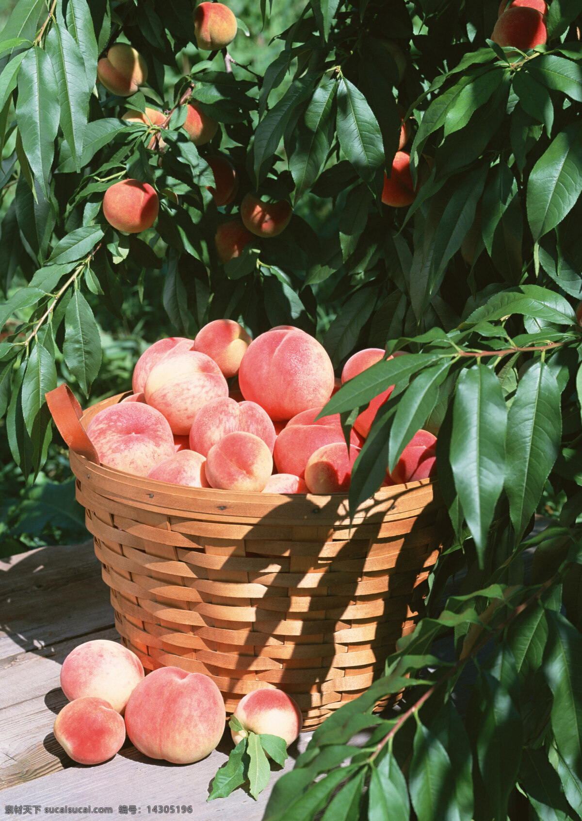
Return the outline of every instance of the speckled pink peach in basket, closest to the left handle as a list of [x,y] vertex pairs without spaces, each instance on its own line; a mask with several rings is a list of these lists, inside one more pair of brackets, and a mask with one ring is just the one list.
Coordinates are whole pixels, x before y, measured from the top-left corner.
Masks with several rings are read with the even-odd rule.
[[174,452],[174,437],[164,416],[143,402],[120,402],[99,410],[87,435],[103,465],[145,476],[152,465]]

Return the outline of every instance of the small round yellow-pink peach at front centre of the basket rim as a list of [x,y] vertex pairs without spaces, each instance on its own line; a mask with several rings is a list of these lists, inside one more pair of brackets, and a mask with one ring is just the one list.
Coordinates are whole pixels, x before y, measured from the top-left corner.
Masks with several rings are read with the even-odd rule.
[[271,451],[254,433],[227,433],[208,451],[206,475],[212,488],[261,493],[272,470]]

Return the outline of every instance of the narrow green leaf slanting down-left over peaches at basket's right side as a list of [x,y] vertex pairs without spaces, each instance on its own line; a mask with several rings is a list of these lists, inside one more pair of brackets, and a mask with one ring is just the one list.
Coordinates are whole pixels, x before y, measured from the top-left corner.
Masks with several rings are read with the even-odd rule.
[[448,376],[451,363],[425,368],[398,397],[398,406],[389,439],[389,470],[394,470],[404,447],[428,419],[439,399],[439,387]]

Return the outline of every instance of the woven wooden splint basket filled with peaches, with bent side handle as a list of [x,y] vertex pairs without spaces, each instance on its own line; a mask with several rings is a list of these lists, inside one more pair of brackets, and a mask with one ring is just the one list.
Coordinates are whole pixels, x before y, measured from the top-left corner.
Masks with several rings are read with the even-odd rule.
[[434,481],[381,488],[350,530],[339,494],[186,488],[96,464],[65,438],[125,646],[146,669],[210,676],[228,713],[276,686],[315,727],[371,685],[422,614],[446,521]]

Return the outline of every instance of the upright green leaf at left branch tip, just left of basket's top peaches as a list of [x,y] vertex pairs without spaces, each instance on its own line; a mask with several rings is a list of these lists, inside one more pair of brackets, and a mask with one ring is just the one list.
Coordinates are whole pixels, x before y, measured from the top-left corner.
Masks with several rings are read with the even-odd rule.
[[91,384],[101,365],[101,340],[93,311],[78,289],[75,289],[66,306],[62,353],[70,373],[80,384],[84,395],[89,396]]

